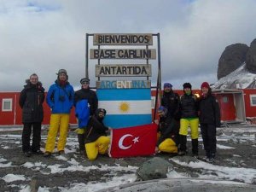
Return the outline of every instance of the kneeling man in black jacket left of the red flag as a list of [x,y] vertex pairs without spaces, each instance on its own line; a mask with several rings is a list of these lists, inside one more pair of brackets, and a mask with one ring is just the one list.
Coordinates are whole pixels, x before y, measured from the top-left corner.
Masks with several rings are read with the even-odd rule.
[[106,115],[104,108],[96,109],[96,113],[90,117],[85,130],[85,150],[89,160],[96,160],[98,154],[106,154],[110,137],[107,137],[106,131],[110,130],[102,122]]

